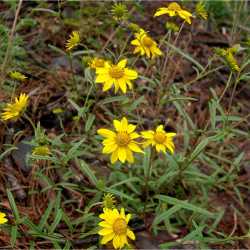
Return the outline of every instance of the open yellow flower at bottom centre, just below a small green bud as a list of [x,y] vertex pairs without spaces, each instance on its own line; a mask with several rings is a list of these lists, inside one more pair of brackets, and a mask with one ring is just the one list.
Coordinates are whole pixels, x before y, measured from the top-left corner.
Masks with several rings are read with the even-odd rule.
[[135,240],[133,231],[128,227],[131,214],[125,215],[124,208],[121,208],[120,213],[117,209],[103,208],[103,213],[99,217],[103,219],[99,223],[102,228],[98,232],[102,236],[101,244],[113,240],[114,248],[121,249],[128,245],[128,238]]

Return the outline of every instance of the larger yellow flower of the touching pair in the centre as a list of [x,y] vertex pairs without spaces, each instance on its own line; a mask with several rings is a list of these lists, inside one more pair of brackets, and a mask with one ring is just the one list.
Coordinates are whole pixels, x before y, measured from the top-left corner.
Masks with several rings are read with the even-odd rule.
[[113,121],[116,132],[109,129],[98,129],[97,133],[106,139],[102,142],[104,148],[103,154],[111,154],[111,163],[115,163],[118,159],[124,163],[134,162],[133,151],[143,153],[135,139],[139,138],[139,134],[135,131],[136,126],[129,124],[128,120],[123,117],[121,121]]

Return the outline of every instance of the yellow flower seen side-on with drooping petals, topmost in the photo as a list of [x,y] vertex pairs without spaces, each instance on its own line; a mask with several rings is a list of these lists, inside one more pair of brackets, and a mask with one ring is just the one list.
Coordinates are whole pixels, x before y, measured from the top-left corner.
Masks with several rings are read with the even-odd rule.
[[176,2],[170,3],[167,8],[166,7],[159,8],[154,14],[154,16],[161,16],[164,14],[168,14],[171,17],[179,16],[180,18],[184,19],[187,23],[191,24],[192,14],[187,10],[183,10],[181,6]]

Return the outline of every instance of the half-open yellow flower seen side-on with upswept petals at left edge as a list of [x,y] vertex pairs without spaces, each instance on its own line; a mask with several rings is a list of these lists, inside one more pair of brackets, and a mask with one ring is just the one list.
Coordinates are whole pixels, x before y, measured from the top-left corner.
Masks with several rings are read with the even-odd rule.
[[29,96],[27,96],[26,94],[20,94],[19,99],[15,98],[14,103],[8,103],[7,106],[3,109],[4,112],[2,113],[2,119],[6,121],[9,119],[16,120],[17,118],[19,118],[25,111],[28,103],[28,98]]

